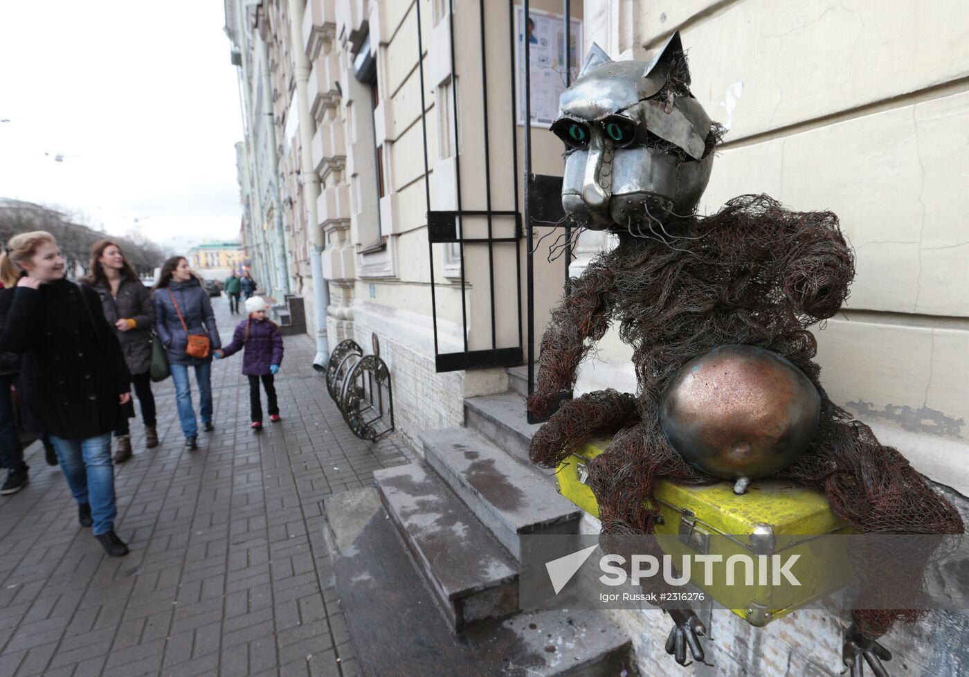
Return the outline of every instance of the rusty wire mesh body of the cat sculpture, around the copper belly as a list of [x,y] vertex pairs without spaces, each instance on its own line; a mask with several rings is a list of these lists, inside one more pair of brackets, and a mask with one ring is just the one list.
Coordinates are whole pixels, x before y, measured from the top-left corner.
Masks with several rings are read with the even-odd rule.
[[[896,449],[835,406],[812,361],[807,327],[833,316],[855,275],[851,249],[829,211],[795,212],[763,195],[740,196],[709,216],[616,225],[618,245],[591,262],[552,312],[542,339],[538,384],[528,400],[543,414],[575,383],[579,362],[610,320],[632,345],[638,392],[589,393],[567,402],[534,436],[531,460],[555,468],[590,436],[614,433],[590,464],[589,483],[604,534],[652,533],[653,491],[661,477],[719,481],[687,464],[659,424],[660,398],[686,362],[724,344],[758,346],[791,360],[822,397],[817,434],[794,464],[773,477],[824,491],[831,508],[863,533],[961,534],[958,512]],[[927,559],[927,558],[926,558]],[[907,568],[911,585],[925,561]],[[911,576],[915,576],[913,580]],[[919,610],[856,609],[877,637]]]

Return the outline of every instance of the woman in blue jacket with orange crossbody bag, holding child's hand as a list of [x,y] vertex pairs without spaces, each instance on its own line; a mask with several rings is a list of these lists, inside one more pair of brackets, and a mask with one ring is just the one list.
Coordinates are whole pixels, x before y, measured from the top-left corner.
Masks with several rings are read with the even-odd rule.
[[[152,290],[155,305],[155,330],[165,346],[172,367],[172,381],[175,385],[175,403],[178,406],[178,419],[185,433],[185,446],[198,448],[199,426],[192,408],[192,389],[188,379],[188,368],[195,367],[195,380],[199,384],[199,414],[202,416],[203,430],[208,432],[212,426],[212,351],[221,347],[219,330],[215,326],[212,304],[208,293],[203,290],[199,280],[192,275],[192,269],[184,257],[172,257],[162,265],[158,282]],[[179,317],[179,314],[181,317]],[[185,351],[188,348],[189,334],[207,335],[211,347],[204,357],[193,357]]]

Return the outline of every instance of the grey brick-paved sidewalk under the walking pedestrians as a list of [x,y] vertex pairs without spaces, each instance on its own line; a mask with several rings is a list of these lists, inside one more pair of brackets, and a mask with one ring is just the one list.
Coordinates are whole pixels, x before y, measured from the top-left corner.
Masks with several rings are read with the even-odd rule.
[[[240,316],[213,299],[222,335]],[[215,362],[215,431],[182,449],[171,380],[154,388],[161,446],[116,467],[119,536],[107,557],[57,468],[28,449],[31,481],[0,499],[0,677],[358,674],[332,589],[323,498],[372,482],[413,451],[351,434],[286,338],[283,420],[248,429],[241,355]],[[264,397],[265,405],[265,397]]]

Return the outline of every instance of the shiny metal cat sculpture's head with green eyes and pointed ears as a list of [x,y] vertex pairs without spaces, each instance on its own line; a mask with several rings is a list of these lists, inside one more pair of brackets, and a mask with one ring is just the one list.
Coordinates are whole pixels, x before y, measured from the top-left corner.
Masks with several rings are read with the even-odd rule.
[[679,33],[649,61],[612,61],[593,45],[559,100],[562,205],[593,230],[634,234],[696,210],[722,128],[689,89]]

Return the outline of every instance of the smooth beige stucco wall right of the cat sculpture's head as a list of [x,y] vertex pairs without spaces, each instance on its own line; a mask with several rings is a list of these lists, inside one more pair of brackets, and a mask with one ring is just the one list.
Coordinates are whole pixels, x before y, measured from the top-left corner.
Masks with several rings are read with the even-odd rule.
[[[830,209],[855,248],[845,311],[816,331],[831,398],[969,493],[969,22],[957,2],[649,2],[692,90],[730,125],[702,211],[764,192]],[[579,389],[634,380],[614,333]],[[613,381],[614,383],[614,381]]]

